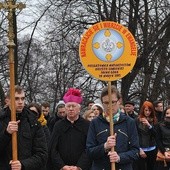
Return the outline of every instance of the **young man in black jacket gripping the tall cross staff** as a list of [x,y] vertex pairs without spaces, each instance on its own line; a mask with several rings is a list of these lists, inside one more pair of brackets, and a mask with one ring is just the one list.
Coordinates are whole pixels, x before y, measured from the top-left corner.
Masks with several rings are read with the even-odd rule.
[[[8,93],[9,101],[10,95]],[[42,170],[48,157],[47,143],[36,114],[24,107],[25,92],[15,86],[17,121],[11,121],[11,103],[0,113],[0,170]],[[12,160],[12,133],[17,132],[18,160]]]

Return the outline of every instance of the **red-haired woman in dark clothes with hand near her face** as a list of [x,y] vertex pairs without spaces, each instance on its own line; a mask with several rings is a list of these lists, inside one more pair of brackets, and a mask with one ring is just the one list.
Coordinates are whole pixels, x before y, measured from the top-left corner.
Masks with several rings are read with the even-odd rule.
[[138,170],[155,170],[157,148],[154,126],[156,123],[153,104],[145,101],[136,119],[140,144],[140,158],[136,166]]

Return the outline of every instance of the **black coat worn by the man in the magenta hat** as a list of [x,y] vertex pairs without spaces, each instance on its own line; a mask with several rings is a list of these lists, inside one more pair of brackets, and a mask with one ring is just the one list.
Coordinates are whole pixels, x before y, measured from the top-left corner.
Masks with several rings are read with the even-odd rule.
[[73,124],[64,118],[56,122],[49,146],[48,170],[74,165],[89,170],[91,162],[85,152],[89,121],[79,117]]

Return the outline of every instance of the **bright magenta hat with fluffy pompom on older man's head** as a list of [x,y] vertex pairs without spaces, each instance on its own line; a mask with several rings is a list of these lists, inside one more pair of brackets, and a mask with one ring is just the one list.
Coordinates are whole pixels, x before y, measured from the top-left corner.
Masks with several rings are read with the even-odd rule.
[[64,100],[65,103],[75,102],[75,103],[80,104],[83,101],[83,98],[81,96],[81,92],[80,92],[79,89],[70,88],[65,93],[63,100]]

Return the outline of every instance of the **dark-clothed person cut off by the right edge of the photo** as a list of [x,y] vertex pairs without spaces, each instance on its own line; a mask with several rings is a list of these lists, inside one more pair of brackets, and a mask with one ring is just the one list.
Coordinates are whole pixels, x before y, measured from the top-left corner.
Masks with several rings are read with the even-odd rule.
[[[156,128],[157,144],[160,152],[165,156],[165,161],[158,162],[158,170],[170,169],[170,106],[164,110],[163,121]],[[167,161],[169,159],[169,161]]]

